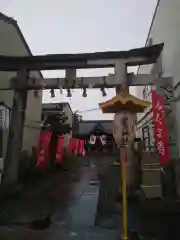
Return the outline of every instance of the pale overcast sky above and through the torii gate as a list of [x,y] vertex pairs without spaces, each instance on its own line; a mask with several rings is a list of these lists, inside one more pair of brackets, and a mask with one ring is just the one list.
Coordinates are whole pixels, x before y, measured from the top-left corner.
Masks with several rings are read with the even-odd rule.
[[[0,0],[1,11],[17,20],[33,54],[83,53],[128,50],[142,47],[149,31],[157,0]],[[111,70],[78,71],[79,76],[107,75]],[[43,72],[44,77],[62,77],[62,71]],[[107,91],[73,91],[72,98],[56,91],[51,99],[46,91],[44,102],[69,101],[84,119],[111,119],[96,109],[98,102],[114,96]]]

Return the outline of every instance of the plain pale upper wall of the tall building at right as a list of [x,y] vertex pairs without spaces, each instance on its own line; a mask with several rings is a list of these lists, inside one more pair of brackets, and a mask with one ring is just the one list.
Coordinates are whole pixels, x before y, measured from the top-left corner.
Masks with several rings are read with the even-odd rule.
[[[164,43],[162,53],[162,76],[173,77],[173,85],[180,81],[180,1],[160,0],[148,38],[152,38],[153,44]],[[151,66],[141,66],[138,73],[150,73]],[[180,90],[179,94],[180,94]],[[137,89],[137,95],[143,98],[143,87]],[[180,102],[175,103],[176,124],[178,135],[178,148],[180,150]],[[142,115],[138,116],[140,120]]]

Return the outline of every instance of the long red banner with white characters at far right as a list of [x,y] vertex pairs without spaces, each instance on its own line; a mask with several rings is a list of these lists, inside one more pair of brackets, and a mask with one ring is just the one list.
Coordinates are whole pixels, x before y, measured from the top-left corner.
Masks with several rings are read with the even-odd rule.
[[156,149],[160,156],[160,163],[167,164],[169,161],[169,147],[164,113],[164,99],[154,90],[152,91],[152,110]]

